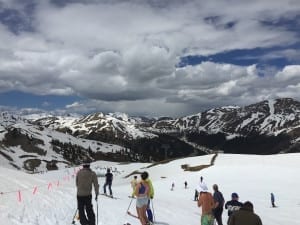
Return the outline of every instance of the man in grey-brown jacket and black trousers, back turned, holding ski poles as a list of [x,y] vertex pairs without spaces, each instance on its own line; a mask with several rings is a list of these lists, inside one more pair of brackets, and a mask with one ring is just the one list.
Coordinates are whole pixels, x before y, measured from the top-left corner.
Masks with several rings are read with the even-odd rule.
[[96,173],[90,169],[89,162],[85,162],[83,168],[77,173],[76,186],[80,223],[81,225],[95,225],[95,213],[92,205],[92,186],[94,186],[95,199],[97,201],[99,184]]

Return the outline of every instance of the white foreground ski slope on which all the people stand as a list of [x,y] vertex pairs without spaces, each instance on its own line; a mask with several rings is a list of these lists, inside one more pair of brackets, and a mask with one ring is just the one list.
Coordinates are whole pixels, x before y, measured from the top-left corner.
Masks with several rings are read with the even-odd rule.
[[[126,215],[131,193],[130,180],[124,178],[132,171],[147,170],[155,188],[153,200],[157,221],[165,225],[200,224],[200,209],[192,201],[200,176],[210,190],[217,183],[226,200],[238,192],[241,201],[250,200],[264,225],[299,224],[300,197],[298,191],[300,154],[254,156],[218,155],[215,165],[198,172],[185,172],[181,165],[209,164],[212,155],[185,158],[145,168],[149,164],[118,164],[99,161],[92,168],[101,175],[105,167],[112,167],[115,175],[113,192],[117,200],[99,197],[98,219],[101,225],[120,225],[139,222]],[[76,208],[74,172],[77,168],[62,169],[43,174],[26,175],[0,168],[0,221],[5,225],[66,225],[71,224]],[[104,178],[99,177],[101,186]],[[184,189],[184,181],[188,189]],[[172,182],[174,191],[170,191]],[[37,191],[35,193],[35,187]],[[20,190],[20,192],[18,192]],[[278,208],[270,207],[270,192],[275,194]],[[21,194],[21,200],[19,199]],[[97,209],[94,202],[95,211]],[[135,213],[134,202],[130,211]],[[223,223],[227,220],[226,210]]]

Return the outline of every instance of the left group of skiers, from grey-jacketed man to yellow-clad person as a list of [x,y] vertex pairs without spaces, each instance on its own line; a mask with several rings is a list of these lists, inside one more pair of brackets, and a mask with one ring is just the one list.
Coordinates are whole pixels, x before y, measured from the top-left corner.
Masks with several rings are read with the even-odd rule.
[[[105,183],[103,185],[103,192],[106,195],[106,187],[108,186],[110,197],[113,197],[112,193],[112,181],[113,174],[110,169],[107,169],[105,174]],[[82,169],[78,171],[76,175],[77,186],[77,206],[79,221],[81,225],[95,225],[95,213],[92,205],[92,188],[95,191],[95,200],[97,201],[99,195],[99,183],[97,175],[90,168],[90,163],[83,164]],[[154,197],[154,188],[149,174],[145,171],[141,174],[140,181],[137,180],[137,176],[131,181],[132,194],[130,197],[136,198],[136,212],[142,225],[153,224],[153,213],[150,207],[150,201]],[[134,216],[129,211],[129,215]]]

